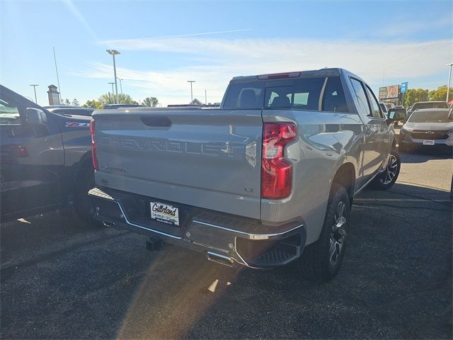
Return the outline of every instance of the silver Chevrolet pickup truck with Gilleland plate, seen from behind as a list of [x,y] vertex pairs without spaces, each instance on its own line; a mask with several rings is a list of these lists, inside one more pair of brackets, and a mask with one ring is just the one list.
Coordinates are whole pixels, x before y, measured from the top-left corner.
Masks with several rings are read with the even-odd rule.
[[[345,69],[234,77],[221,108],[95,111],[93,214],[227,266],[338,272],[354,196],[390,188],[391,120]],[[304,265],[305,267],[305,265]]]

